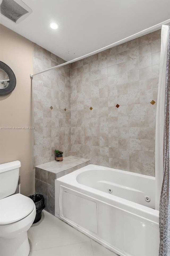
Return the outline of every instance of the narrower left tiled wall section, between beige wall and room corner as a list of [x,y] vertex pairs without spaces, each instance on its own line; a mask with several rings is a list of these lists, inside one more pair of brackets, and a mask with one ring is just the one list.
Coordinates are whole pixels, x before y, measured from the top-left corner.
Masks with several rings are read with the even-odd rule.
[[[34,43],[34,73],[65,61]],[[54,150],[71,151],[70,65],[33,78],[34,167],[53,161]],[[52,109],[50,109],[50,107]]]

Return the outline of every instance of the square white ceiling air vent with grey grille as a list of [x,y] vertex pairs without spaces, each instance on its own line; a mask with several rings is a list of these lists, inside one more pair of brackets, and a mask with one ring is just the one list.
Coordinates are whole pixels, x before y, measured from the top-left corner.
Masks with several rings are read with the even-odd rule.
[[1,14],[15,23],[23,21],[32,10],[21,0],[1,0]]

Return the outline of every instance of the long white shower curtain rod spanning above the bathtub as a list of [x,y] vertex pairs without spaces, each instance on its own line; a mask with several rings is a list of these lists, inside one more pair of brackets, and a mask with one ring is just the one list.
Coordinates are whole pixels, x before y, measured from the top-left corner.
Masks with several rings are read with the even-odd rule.
[[122,40],[120,40],[120,41],[117,41],[117,42],[115,42],[115,43],[112,43],[111,45],[108,45],[108,46],[105,46],[105,47],[103,47],[103,48],[100,48],[99,50],[96,50],[96,51],[93,51],[93,52],[91,52],[91,53],[85,54],[85,55],[83,55],[83,56],[81,56],[81,57],[78,57],[78,58],[76,58],[76,59],[72,59],[71,61],[64,62],[64,63],[62,63],[62,64],[60,64],[60,65],[55,66],[55,67],[51,67],[50,69],[46,69],[46,70],[43,70],[43,71],[38,72],[38,73],[36,73],[36,74],[29,74],[29,75],[30,75],[31,78],[33,78],[35,75],[39,75],[39,74],[42,74],[42,73],[47,72],[47,71],[49,71],[49,70],[56,69],[57,67],[62,67],[62,66],[65,66],[65,65],[67,65],[67,64],[73,63],[73,62],[75,62],[75,61],[79,61],[80,59],[84,59],[84,58],[89,57],[89,56],[91,56],[91,55],[94,55],[94,54],[96,54],[96,53],[100,53],[101,51],[107,50],[107,49],[112,48],[112,47],[114,47],[114,46],[116,46],[116,45],[120,45],[121,43],[125,43],[125,42],[127,42],[127,41],[130,41],[130,40],[135,39],[135,38],[137,38],[137,37],[140,37],[140,36],[142,36],[142,35],[151,33],[151,32],[153,32],[153,31],[155,31],[155,30],[161,28],[162,25],[167,25],[168,23],[170,23],[170,19],[168,19],[168,20],[166,20],[166,21],[164,21],[164,22],[161,22],[161,23],[159,23],[159,24],[157,24],[157,25],[154,25],[154,26],[152,26],[152,27],[149,27],[148,29],[144,29],[144,30],[142,30],[141,32],[138,32],[138,33],[136,33],[136,34],[134,34],[134,35],[130,35],[129,37],[126,37],[126,38],[124,38],[124,39],[122,39]]

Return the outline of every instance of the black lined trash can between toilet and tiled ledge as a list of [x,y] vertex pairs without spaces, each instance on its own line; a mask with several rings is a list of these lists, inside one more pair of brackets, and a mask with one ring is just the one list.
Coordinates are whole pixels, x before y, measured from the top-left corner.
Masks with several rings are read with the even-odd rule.
[[36,206],[36,216],[33,222],[34,224],[40,221],[42,217],[42,210],[45,208],[44,197],[41,194],[34,194],[34,195],[30,195],[29,198],[32,199],[32,201],[35,203],[35,206]]

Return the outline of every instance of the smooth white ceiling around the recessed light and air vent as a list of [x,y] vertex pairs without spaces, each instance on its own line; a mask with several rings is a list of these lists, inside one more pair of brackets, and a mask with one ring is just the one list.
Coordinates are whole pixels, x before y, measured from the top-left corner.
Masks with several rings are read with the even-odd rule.
[[[32,9],[1,24],[69,61],[170,18],[169,0],[23,0]],[[50,22],[59,29],[52,30]]]

